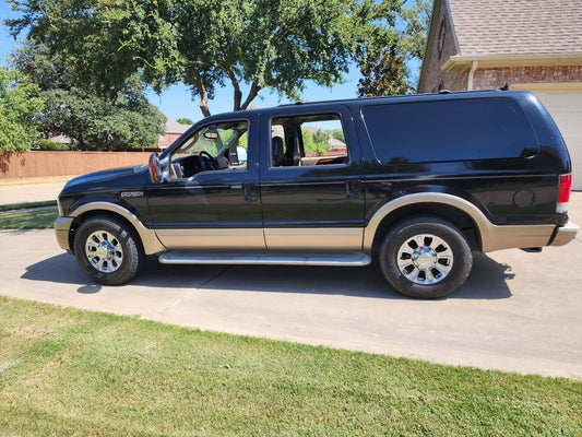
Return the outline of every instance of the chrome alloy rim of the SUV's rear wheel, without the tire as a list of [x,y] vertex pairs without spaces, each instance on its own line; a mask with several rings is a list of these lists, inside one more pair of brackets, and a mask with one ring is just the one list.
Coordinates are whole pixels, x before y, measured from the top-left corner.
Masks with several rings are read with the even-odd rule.
[[442,281],[453,267],[453,252],[449,244],[430,234],[408,238],[400,247],[397,257],[402,274],[420,285]]

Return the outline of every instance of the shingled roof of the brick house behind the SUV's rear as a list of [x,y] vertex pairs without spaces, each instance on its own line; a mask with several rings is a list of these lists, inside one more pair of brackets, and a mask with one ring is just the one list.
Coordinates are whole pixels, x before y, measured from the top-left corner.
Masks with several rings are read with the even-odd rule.
[[459,55],[582,54],[582,0],[448,0]]

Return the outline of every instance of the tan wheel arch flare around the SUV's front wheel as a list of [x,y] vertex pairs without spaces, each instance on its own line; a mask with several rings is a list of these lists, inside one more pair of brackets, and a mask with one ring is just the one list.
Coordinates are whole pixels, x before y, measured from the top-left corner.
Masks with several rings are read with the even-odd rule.
[[158,253],[165,250],[155,232],[146,228],[140,220],[123,206],[109,202],[92,202],[79,206],[71,216],[74,217],[69,229],[69,247],[74,251],[74,236],[79,226],[94,216],[109,216],[120,220],[130,226],[139,236],[145,255]]

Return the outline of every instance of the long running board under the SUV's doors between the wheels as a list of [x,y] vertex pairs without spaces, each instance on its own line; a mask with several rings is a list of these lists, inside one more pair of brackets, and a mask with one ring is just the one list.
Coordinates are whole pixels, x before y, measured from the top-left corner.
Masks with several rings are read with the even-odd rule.
[[162,253],[163,264],[266,264],[266,265],[368,265],[366,253],[197,253],[171,251]]

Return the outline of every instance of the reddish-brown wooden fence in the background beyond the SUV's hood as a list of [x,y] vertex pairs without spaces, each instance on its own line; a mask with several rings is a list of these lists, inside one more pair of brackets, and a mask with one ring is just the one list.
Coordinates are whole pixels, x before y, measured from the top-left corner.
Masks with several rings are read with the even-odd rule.
[[75,176],[146,164],[149,152],[0,152],[0,179]]

